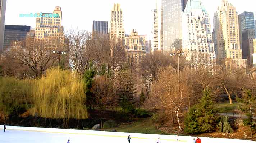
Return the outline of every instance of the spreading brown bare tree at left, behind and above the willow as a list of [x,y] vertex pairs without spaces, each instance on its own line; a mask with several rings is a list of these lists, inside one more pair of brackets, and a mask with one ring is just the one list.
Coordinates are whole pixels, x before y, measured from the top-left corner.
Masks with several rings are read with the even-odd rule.
[[39,77],[44,71],[52,66],[57,59],[52,50],[59,48],[61,43],[58,39],[30,40],[28,39],[21,48],[13,48],[10,54],[19,64],[28,66],[35,77]]

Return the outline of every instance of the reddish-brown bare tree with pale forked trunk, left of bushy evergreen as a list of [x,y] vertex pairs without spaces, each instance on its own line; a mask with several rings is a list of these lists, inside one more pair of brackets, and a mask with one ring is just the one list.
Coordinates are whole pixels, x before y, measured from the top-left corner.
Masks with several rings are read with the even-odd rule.
[[[156,109],[169,110],[169,113],[175,113],[179,130],[181,131],[180,117],[182,117],[187,95],[186,86],[178,82],[177,72],[173,68],[163,69],[159,72],[157,82],[152,85],[152,97],[149,103],[153,104]],[[182,110],[183,109],[183,110]]]

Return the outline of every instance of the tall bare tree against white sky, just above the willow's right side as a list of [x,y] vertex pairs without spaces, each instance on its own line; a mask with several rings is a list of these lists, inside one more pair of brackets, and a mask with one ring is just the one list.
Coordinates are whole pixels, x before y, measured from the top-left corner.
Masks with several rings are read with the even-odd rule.
[[71,29],[65,34],[65,38],[67,39],[65,49],[68,50],[70,68],[83,75],[91,58],[91,34],[85,30]]

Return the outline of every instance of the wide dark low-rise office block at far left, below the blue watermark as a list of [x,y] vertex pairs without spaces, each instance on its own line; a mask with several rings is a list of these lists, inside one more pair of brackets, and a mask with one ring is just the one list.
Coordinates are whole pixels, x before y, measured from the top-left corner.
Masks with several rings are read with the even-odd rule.
[[30,31],[30,28],[31,26],[5,25],[4,50],[9,49],[13,41],[25,41],[27,38],[27,32]]

